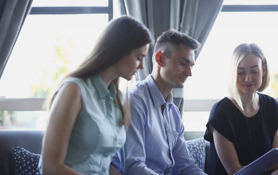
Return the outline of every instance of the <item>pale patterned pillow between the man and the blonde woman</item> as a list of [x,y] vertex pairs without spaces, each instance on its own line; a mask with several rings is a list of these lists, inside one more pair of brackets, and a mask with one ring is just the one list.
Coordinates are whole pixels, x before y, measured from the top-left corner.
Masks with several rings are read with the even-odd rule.
[[205,140],[202,137],[185,140],[186,147],[193,155],[195,163],[199,166],[201,170],[204,171],[204,161],[205,161]]

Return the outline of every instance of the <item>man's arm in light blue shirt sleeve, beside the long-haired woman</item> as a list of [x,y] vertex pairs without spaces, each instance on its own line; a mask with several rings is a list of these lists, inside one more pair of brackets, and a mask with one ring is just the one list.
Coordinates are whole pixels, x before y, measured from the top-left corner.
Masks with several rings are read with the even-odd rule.
[[146,113],[143,107],[143,101],[135,96],[130,99],[131,124],[128,127],[126,141],[124,143],[124,174],[134,175],[157,175],[156,172],[149,169],[145,164],[145,132]]

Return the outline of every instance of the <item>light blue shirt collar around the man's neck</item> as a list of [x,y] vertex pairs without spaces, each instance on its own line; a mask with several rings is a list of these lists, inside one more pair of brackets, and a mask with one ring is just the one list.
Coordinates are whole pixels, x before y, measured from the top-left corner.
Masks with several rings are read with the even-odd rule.
[[147,75],[147,77],[145,78],[145,81],[148,85],[154,107],[161,108],[162,104],[166,104],[166,105],[168,105],[168,110],[170,110],[172,103],[173,103],[172,93],[170,92],[167,95],[166,100],[165,100],[150,74]]

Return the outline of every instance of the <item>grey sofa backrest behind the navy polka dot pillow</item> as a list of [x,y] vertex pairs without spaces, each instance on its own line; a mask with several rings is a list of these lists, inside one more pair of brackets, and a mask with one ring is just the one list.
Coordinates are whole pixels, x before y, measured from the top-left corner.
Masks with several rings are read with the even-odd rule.
[[42,137],[42,130],[0,130],[0,174],[13,174],[13,147],[40,153]]

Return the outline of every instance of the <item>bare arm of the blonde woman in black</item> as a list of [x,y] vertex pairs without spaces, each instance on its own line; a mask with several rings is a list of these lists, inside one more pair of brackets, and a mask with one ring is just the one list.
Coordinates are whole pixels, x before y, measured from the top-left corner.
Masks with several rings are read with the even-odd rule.
[[212,127],[212,134],[216,152],[227,173],[233,174],[243,168],[244,166],[239,163],[233,143],[221,135],[214,127]]

